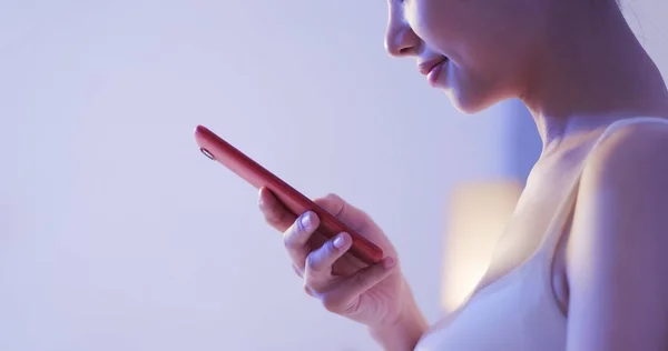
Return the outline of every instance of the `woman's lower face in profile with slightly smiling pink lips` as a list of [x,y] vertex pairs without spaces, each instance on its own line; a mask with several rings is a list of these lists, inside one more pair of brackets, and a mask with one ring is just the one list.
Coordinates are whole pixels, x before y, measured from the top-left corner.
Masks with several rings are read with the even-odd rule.
[[385,47],[473,113],[521,93],[544,32],[537,0],[387,0]]

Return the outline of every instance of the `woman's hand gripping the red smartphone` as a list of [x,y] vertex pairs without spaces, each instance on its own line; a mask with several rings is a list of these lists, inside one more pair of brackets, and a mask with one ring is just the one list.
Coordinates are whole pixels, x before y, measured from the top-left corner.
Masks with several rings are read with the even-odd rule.
[[306,293],[318,299],[328,311],[366,324],[372,329],[396,325],[413,310],[413,297],[399,269],[396,250],[383,231],[363,211],[330,194],[314,200],[352,229],[379,245],[385,258],[367,265],[346,251],[347,233],[327,240],[315,232],[320,219],[313,212],[295,218],[266,188],[259,190],[259,208],[265,220],[283,232],[285,247]]

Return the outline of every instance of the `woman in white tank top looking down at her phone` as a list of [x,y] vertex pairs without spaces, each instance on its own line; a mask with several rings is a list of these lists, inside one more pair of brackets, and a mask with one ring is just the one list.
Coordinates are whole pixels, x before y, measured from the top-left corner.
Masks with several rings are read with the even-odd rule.
[[428,325],[396,251],[361,210],[317,200],[382,247],[364,268],[351,238],[311,234],[266,190],[305,290],[367,325],[385,350],[668,350],[668,91],[613,0],[389,0],[386,49],[412,58],[459,110],[509,98],[543,150],[484,278]]

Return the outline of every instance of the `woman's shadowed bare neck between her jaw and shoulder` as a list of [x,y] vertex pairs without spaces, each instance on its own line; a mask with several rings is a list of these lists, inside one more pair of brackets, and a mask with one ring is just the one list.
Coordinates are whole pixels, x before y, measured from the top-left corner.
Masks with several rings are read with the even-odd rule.
[[[581,0],[576,0],[581,1]],[[568,1],[549,9],[544,50],[521,96],[543,142],[554,149],[631,116],[668,117],[661,74],[615,7],[571,13]],[[577,8],[577,7],[571,7]]]

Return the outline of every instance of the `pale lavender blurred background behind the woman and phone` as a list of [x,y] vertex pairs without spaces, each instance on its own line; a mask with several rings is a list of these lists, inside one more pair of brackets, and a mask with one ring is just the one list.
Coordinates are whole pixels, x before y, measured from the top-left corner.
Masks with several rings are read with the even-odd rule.
[[[463,116],[390,59],[385,7],[0,0],[0,350],[376,348],[197,124],[367,211],[426,318],[454,308],[540,146],[517,101]],[[665,0],[626,11],[668,77]]]

